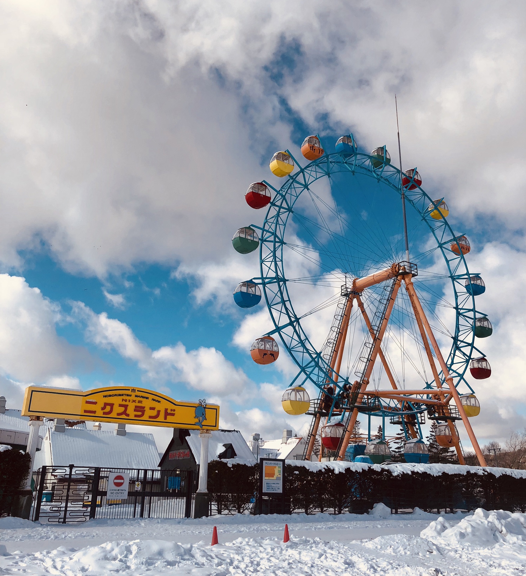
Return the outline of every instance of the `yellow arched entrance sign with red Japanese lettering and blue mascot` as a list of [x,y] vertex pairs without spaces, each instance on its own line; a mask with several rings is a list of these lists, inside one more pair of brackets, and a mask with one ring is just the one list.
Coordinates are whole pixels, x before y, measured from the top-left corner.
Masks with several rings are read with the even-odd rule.
[[126,422],[190,430],[218,430],[219,406],[179,402],[145,388],[110,386],[86,392],[28,386],[22,416]]

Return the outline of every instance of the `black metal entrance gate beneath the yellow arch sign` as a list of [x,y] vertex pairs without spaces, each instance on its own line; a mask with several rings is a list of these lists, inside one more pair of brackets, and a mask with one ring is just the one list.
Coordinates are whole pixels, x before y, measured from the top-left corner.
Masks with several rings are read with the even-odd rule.
[[[111,472],[130,475],[126,499],[107,498]],[[190,518],[193,476],[186,470],[43,466],[31,519],[66,524],[90,518]]]

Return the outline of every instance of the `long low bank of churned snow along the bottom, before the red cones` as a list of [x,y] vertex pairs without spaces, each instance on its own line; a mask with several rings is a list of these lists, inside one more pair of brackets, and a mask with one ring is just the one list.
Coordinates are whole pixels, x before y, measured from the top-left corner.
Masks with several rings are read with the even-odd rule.
[[[13,574],[24,566],[25,574],[56,576],[139,576],[179,574],[190,576],[226,576],[227,574],[302,574],[318,576],[421,576],[418,567],[393,560],[369,558],[350,552],[335,541],[298,538],[284,544],[273,538],[239,538],[211,547],[175,544],[164,540],[108,542],[75,551],[66,547],[15,556],[6,564]],[[436,574],[436,573],[433,573]]]

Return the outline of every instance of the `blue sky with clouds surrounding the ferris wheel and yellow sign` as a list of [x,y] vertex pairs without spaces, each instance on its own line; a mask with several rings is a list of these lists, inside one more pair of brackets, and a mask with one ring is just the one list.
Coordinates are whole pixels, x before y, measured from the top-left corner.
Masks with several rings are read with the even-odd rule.
[[[155,388],[277,438],[284,360],[230,238],[274,151],[352,131],[404,158],[470,237],[494,325],[482,443],[526,424],[526,8],[521,2],[5,0],[0,4],[0,392]],[[262,219],[258,214],[257,218]],[[168,432],[157,433],[164,449]]]

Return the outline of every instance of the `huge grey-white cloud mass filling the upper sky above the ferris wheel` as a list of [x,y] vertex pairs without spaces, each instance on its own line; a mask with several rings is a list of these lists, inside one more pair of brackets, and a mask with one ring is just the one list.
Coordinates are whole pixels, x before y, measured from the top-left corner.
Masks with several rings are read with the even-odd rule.
[[394,92],[404,162],[425,187],[447,189],[459,216],[523,227],[524,174],[509,162],[524,123],[516,3],[0,11],[4,263],[41,239],[67,270],[99,276],[222,256],[254,217],[247,185],[268,175],[274,147],[292,146],[282,101],[312,130],[352,128],[365,149],[393,150]]

